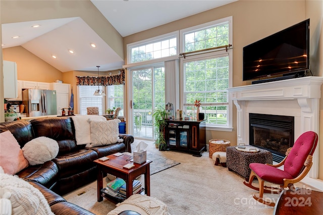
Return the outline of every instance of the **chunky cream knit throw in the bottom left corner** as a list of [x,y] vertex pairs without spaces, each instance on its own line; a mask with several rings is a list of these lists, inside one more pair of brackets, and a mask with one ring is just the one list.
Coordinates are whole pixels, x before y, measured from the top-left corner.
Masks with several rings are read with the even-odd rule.
[[[4,204],[0,209],[6,209],[9,214],[13,215],[54,214],[37,188],[17,176],[3,173],[2,168],[0,169],[0,198],[1,203]],[[5,211],[2,212],[5,213]]]

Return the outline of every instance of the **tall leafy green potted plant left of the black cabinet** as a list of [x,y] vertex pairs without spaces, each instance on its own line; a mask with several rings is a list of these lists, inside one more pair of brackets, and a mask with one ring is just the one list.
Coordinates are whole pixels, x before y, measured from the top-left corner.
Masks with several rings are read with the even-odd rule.
[[155,136],[155,146],[161,151],[165,151],[167,144],[165,139],[165,127],[167,126],[167,112],[165,109],[156,109],[153,114],[153,127]]

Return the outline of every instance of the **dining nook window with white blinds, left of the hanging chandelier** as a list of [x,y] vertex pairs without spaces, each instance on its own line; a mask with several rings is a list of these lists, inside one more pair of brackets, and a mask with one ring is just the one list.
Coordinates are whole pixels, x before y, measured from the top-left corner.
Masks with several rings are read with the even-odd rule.
[[80,104],[80,114],[86,115],[86,108],[89,106],[97,106],[99,108],[99,114],[103,115],[105,112],[104,109],[104,97],[93,95],[94,91],[97,90],[97,86],[87,86],[80,85],[79,89],[79,104]]

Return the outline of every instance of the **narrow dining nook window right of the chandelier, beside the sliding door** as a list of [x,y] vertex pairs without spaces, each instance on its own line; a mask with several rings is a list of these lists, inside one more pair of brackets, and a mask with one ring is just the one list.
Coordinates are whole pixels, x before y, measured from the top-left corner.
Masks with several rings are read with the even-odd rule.
[[124,105],[123,105],[123,98],[124,98],[124,85],[110,85],[107,86],[107,108],[121,108],[119,112],[119,117],[124,116]]

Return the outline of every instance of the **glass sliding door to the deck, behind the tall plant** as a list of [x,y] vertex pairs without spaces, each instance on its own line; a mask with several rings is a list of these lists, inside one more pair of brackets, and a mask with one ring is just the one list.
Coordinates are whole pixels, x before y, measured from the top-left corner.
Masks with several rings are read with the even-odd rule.
[[153,140],[152,114],[165,105],[165,69],[154,66],[131,70],[132,78],[132,135]]

